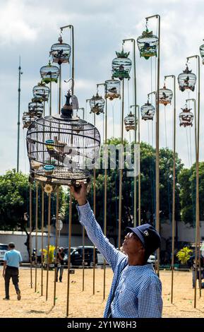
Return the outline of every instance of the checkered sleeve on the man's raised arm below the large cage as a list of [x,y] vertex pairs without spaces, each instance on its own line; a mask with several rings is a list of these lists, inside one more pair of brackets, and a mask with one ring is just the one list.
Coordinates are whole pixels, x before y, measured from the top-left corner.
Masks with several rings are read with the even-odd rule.
[[92,243],[95,244],[95,247],[97,247],[114,271],[119,261],[124,259],[126,255],[117,250],[109,242],[107,237],[104,236],[100,225],[95,220],[95,215],[93,214],[89,203],[86,203],[84,206],[77,206],[77,209],[79,221],[85,226],[88,237]]

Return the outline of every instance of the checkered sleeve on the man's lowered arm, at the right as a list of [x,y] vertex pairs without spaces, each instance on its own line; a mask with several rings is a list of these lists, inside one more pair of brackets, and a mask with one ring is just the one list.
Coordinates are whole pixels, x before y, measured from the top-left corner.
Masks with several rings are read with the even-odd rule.
[[160,280],[150,280],[138,297],[138,318],[161,318],[162,307],[162,284]]

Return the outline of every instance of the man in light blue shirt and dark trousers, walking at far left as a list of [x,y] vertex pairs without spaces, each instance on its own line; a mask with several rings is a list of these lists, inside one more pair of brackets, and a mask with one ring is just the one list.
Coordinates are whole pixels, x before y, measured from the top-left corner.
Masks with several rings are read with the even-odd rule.
[[4,268],[3,268],[3,278],[5,280],[5,292],[6,297],[4,300],[10,300],[9,297],[9,283],[10,279],[12,279],[13,285],[16,289],[17,299],[21,299],[20,289],[18,286],[19,276],[18,276],[18,268],[20,262],[22,261],[22,257],[20,252],[15,250],[15,244],[13,242],[8,244],[8,251],[6,251],[4,255]]

